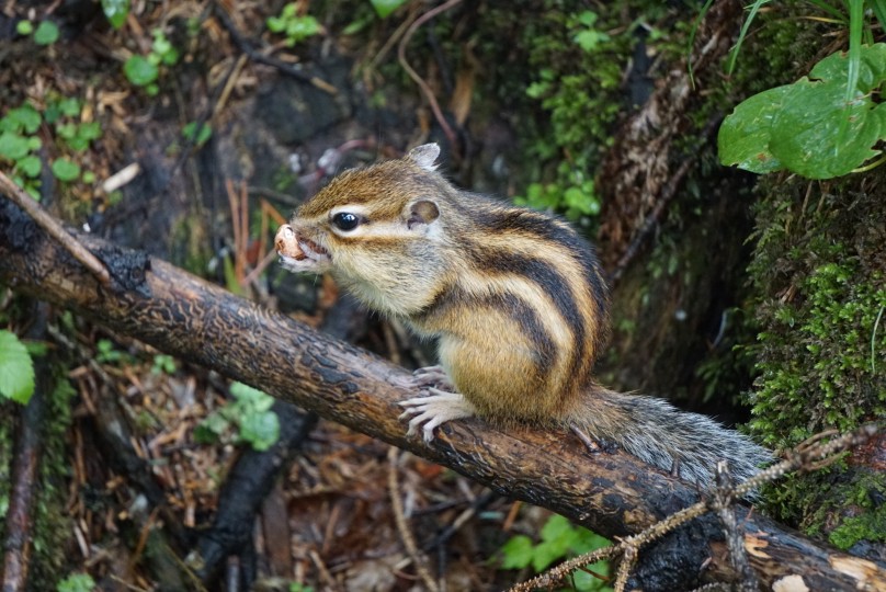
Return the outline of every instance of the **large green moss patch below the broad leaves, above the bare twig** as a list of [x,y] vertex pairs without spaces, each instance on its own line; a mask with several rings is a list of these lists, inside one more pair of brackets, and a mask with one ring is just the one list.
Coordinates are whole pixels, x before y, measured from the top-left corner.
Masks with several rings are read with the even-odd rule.
[[886,417],[886,330],[875,328],[886,307],[875,229],[886,216],[875,196],[764,189],[751,265],[763,328],[753,428],[784,447]]

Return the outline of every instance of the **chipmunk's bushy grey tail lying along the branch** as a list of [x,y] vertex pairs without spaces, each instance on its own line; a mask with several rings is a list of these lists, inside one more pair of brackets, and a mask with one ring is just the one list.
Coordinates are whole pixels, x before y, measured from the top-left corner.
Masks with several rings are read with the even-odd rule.
[[770,463],[772,453],[716,421],[680,411],[663,399],[595,386],[566,419],[588,435],[614,442],[640,460],[704,489],[714,485],[717,462],[727,460],[736,483]]

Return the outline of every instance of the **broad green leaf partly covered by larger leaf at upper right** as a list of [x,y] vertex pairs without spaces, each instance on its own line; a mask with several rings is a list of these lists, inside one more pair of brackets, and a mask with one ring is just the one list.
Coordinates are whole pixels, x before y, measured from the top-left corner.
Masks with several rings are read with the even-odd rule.
[[769,149],[769,140],[772,119],[782,109],[792,87],[776,87],[754,94],[726,116],[717,134],[722,163],[760,174],[782,168]]

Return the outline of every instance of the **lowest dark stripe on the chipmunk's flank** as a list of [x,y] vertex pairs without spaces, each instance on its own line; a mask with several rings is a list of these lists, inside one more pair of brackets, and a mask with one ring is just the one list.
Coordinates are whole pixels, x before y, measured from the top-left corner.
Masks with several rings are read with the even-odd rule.
[[492,294],[480,297],[452,287],[439,293],[424,310],[412,315],[411,319],[418,325],[423,325],[434,318],[445,319],[447,314],[453,310],[457,314],[465,306],[473,309],[488,308],[496,312],[507,311],[526,338],[526,343],[532,344],[539,376],[546,376],[549,373],[550,367],[557,361],[557,344],[554,343],[538,318],[538,311],[514,294]]

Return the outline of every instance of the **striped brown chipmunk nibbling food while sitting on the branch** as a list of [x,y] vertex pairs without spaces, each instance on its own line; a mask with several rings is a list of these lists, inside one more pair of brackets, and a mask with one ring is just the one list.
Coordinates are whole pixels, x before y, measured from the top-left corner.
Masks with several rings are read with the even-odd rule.
[[439,155],[427,144],[343,172],[275,240],[287,270],[330,272],[371,309],[438,338],[441,366],[416,375],[424,396],[400,402],[409,434],[430,442],[472,415],[559,424],[705,488],[719,459],[739,480],[771,459],[704,415],[598,385],[609,293],[591,244],[554,216],[456,189]]

